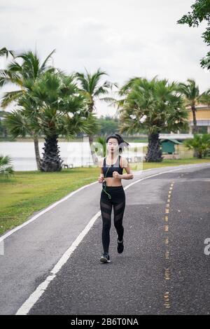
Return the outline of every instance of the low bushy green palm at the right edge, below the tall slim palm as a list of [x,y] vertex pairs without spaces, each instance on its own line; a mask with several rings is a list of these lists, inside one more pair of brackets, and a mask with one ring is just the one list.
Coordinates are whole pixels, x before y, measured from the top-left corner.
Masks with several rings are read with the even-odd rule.
[[189,150],[194,150],[197,158],[205,157],[210,150],[210,134],[195,134],[193,139],[186,139],[183,143]]

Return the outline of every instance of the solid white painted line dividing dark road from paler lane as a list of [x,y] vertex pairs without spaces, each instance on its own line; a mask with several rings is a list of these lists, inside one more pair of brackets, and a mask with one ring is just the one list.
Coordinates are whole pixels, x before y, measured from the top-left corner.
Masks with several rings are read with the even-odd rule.
[[[188,167],[188,168],[191,168],[191,167]],[[150,179],[151,177],[159,176],[159,175],[162,175],[162,174],[166,174],[168,172],[176,172],[177,170],[181,170],[181,169],[183,169],[183,167],[179,167],[179,168],[176,168],[176,169],[168,170],[167,172],[160,172],[158,174],[153,174],[151,176],[147,176],[147,177],[144,177],[142,179],[138,179],[137,181],[134,181],[133,183],[130,183],[129,185],[125,186],[124,189],[127,190],[127,188],[130,188],[130,186],[133,186],[134,184],[137,184],[140,181],[144,181],[145,179]],[[94,183],[97,183],[97,182],[94,182]],[[91,184],[94,184],[94,183],[91,183]],[[89,185],[91,185],[91,184],[89,184]],[[76,191],[74,193],[76,193]],[[71,196],[71,195],[69,195],[69,196]],[[69,196],[67,196],[66,198],[68,198]],[[52,206],[50,206],[50,207],[52,207]],[[39,299],[39,297],[41,297],[41,295],[44,293],[44,291],[48,287],[48,284],[50,283],[50,281],[52,281],[53,279],[55,279],[56,274],[59,272],[59,270],[65,264],[65,262],[70,258],[70,256],[73,253],[73,251],[76,249],[76,247],[83,240],[83,237],[85,237],[85,235],[87,235],[87,232],[90,231],[90,228],[92,228],[92,225],[97,220],[97,218],[99,218],[99,216],[101,216],[101,211],[98,211],[97,214],[95,214],[91,218],[90,222],[85,226],[84,230],[82,232],[80,232],[80,235],[78,235],[78,237],[76,238],[76,240],[73,241],[73,243],[71,244],[71,246],[65,251],[65,253],[62,255],[62,257],[59,259],[59,261],[57,262],[57,264],[55,265],[55,267],[53,267],[53,269],[50,271],[51,274],[45,279],[45,281],[43,281],[42,283],[40,283],[40,285],[36,288],[36,290],[34,291],[34,293],[31,293],[31,295],[29,296],[29,298],[22,304],[22,306],[18,309],[18,311],[16,312],[15,315],[27,315],[29,313],[30,309],[34,306],[34,304],[37,302],[37,300]]]

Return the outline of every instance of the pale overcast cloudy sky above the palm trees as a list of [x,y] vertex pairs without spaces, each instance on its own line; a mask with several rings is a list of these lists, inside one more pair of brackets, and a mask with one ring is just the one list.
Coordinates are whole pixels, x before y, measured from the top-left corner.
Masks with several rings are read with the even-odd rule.
[[[1,0],[0,48],[53,50],[53,64],[66,73],[98,68],[123,85],[133,76],[185,82],[195,78],[203,92],[210,72],[200,67],[207,54],[198,28],[178,25],[195,0]],[[0,68],[6,67],[0,57]],[[9,87],[9,86],[8,86]],[[0,92],[8,90],[4,87]],[[13,88],[17,89],[16,88]],[[11,90],[11,87],[10,87]],[[116,109],[97,102],[97,116]]]

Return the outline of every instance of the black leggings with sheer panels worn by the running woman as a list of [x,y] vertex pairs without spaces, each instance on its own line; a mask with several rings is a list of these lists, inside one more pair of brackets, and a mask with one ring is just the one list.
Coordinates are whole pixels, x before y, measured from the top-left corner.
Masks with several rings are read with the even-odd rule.
[[111,195],[111,199],[109,199],[108,195],[106,195],[104,190],[102,190],[100,208],[102,212],[103,223],[102,244],[104,248],[104,253],[109,253],[112,205],[114,211],[114,225],[118,233],[118,239],[120,241],[123,240],[123,214],[125,210],[125,191],[123,186],[106,186],[106,192]]

